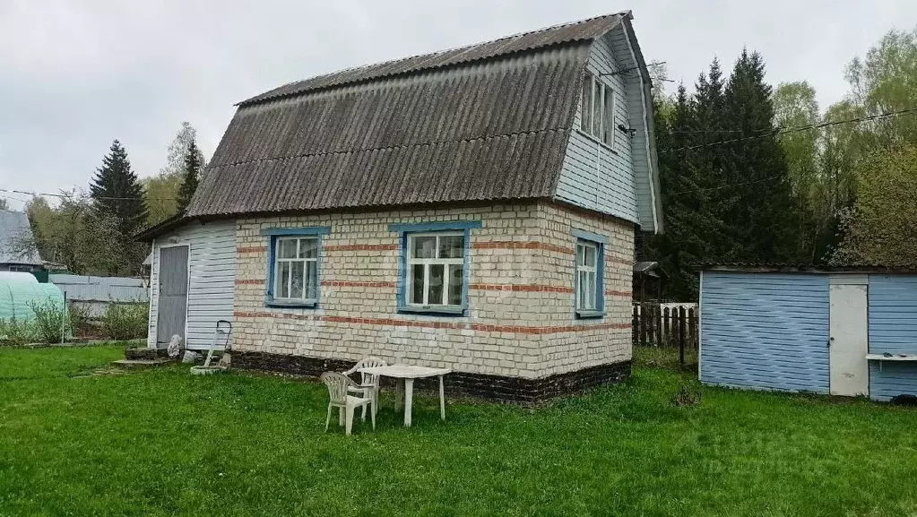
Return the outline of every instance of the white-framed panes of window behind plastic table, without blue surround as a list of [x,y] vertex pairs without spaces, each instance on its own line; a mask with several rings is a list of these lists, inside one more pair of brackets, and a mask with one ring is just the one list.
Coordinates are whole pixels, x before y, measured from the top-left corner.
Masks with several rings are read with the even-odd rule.
[[465,281],[464,232],[409,234],[407,251],[406,302],[460,309]]

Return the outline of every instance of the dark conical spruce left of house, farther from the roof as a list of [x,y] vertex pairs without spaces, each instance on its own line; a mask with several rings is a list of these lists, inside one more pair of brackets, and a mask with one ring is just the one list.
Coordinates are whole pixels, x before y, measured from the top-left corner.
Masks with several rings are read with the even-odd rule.
[[89,192],[96,209],[117,219],[122,236],[130,238],[145,225],[147,204],[143,199],[143,187],[130,168],[127,151],[121,142],[112,142],[102,159],[102,167],[95,172]]

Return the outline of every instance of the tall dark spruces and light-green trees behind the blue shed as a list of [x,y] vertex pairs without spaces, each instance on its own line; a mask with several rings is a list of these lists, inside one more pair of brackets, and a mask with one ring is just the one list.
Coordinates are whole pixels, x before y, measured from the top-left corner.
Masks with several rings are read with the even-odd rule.
[[695,300],[704,263],[917,266],[917,28],[891,30],[845,68],[823,112],[808,82],[773,88],[743,50],[693,92],[657,95],[667,296]]

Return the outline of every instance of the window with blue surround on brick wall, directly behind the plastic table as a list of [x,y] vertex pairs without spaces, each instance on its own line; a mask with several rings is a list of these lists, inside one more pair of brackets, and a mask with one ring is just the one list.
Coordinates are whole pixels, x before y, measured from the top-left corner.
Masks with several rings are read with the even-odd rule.
[[400,234],[399,313],[461,316],[468,310],[470,230],[481,221],[389,225]]

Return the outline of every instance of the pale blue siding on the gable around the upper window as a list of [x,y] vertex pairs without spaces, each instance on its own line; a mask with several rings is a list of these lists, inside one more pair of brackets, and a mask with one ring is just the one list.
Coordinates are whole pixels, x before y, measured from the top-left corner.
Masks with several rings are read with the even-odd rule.
[[[593,74],[627,68],[615,59],[612,42],[613,33],[610,33],[593,44],[587,64],[587,69]],[[630,109],[633,103],[625,86],[625,76],[628,75],[601,78],[614,92],[615,127],[619,124],[632,126]],[[580,108],[577,109],[574,128],[570,132],[567,156],[558,182],[558,199],[640,223],[631,137],[615,129],[612,149],[599,144],[580,133]]]

